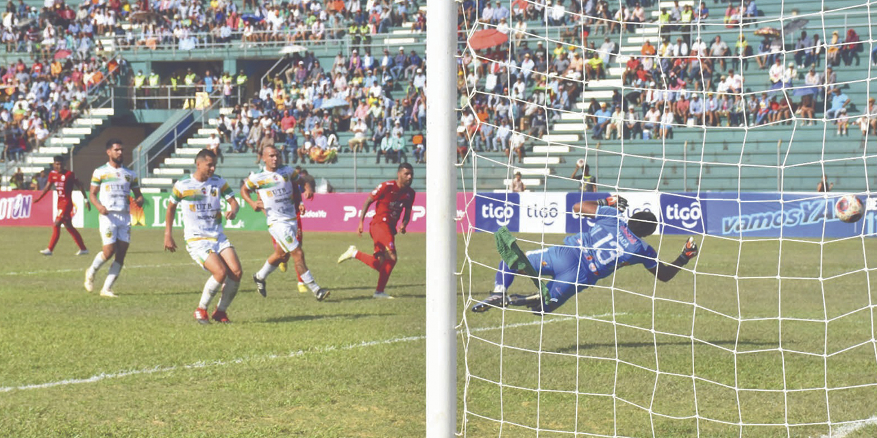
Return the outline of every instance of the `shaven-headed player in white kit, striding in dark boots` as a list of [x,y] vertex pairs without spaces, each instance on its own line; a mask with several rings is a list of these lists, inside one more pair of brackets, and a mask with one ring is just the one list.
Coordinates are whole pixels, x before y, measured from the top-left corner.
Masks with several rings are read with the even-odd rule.
[[[329,296],[329,291],[317,285],[313,275],[304,263],[304,251],[298,244],[296,232],[296,203],[293,201],[292,185],[299,182],[296,170],[289,166],[281,166],[280,152],[274,146],[266,146],[262,149],[262,159],[265,161],[265,171],[253,173],[246,177],[244,186],[240,188],[244,201],[250,204],[255,211],[265,211],[267,216],[268,232],[275,238],[277,245],[275,251],[268,256],[265,265],[253,274],[256,289],[262,296],[267,295],[265,279],[268,274],[274,272],[282,262],[292,256],[296,263],[296,271],[302,272],[304,284],[310,288],[317,300],[322,301]],[[255,191],[259,194],[259,200],[253,201],[250,193]],[[313,196],[309,186],[305,186],[304,197]]]

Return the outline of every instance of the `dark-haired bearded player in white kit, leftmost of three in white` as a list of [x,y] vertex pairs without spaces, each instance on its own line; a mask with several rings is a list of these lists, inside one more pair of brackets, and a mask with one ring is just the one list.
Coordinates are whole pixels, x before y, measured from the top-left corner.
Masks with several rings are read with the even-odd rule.
[[128,194],[134,193],[134,202],[143,206],[143,194],[140,193],[140,185],[137,175],[129,168],[122,166],[122,156],[125,149],[122,140],[111,138],[107,140],[107,164],[95,169],[91,175],[91,187],[89,200],[97,208],[98,228],[103,240],[103,251],[98,252],[91,262],[89,269],[85,270],[85,290],[91,292],[95,286],[95,273],[114,255],[116,256],[110,265],[110,272],[103,281],[101,288],[102,297],[115,298],[112,285],[122,272],[125,265],[125,254],[131,242],[131,212],[128,205]]

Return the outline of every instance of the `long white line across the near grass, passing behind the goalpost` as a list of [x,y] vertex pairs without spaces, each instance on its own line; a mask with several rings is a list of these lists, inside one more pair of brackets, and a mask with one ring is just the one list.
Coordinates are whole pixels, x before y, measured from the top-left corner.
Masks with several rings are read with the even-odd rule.
[[[605,316],[609,316],[609,314],[598,314],[598,315],[590,315],[588,318],[602,318]],[[479,331],[488,331],[488,330],[498,330],[498,329],[512,329],[516,327],[524,327],[538,324],[548,324],[551,322],[560,322],[560,321],[572,321],[574,317],[564,317],[564,318],[553,318],[546,319],[545,321],[531,321],[531,322],[517,322],[514,324],[506,324],[504,326],[495,326],[495,327],[481,327],[477,329],[471,329],[470,331],[479,332]],[[459,334],[461,330],[458,330]],[[214,360],[209,362],[196,362],[195,364],[186,364],[186,365],[170,365],[170,366],[154,366],[152,368],[141,368],[139,370],[128,370],[128,371],[118,371],[105,373],[102,372],[100,374],[96,374],[95,376],[91,376],[90,378],[66,378],[64,380],[58,380],[55,382],[46,382],[41,384],[32,384],[32,385],[20,385],[20,386],[0,386],[0,392],[11,392],[11,391],[25,391],[31,389],[45,389],[45,388],[53,388],[55,386],[66,386],[66,385],[78,385],[78,384],[86,384],[86,383],[95,383],[100,382],[101,380],[107,380],[110,378],[124,378],[127,376],[137,376],[137,375],[146,375],[146,374],[155,374],[159,372],[170,372],[170,371],[178,371],[178,370],[196,370],[199,368],[208,368],[212,366],[222,366],[229,364],[246,364],[250,362],[257,361],[266,361],[266,360],[274,360],[281,359],[285,357],[300,357],[306,354],[314,354],[314,353],[326,353],[329,351],[346,351],[346,350],[356,350],[360,348],[368,348],[374,347],[378,345],[390,345],[394,343],[408,343],[412,341],[422,341],[426,339],[426,336],[403,336],[403,337],[395,337],[391,339],[383,339],[377,341],[363,341],[361,343],[353,343],[349,345],[343,346],[335,346],[329,345],[326,347],[318,347],[310,350],[297,350],[290,351],[287,354],[273,354],[267,356],[260,357],[238,357],[232,360]]]

